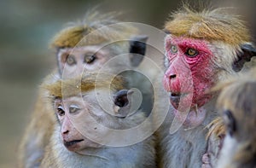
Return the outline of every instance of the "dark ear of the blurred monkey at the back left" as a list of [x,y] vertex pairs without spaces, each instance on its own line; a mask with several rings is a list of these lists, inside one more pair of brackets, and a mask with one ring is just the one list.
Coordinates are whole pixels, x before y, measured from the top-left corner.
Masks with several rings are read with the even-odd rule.
[[139,35],[130,39],[130,61],[132,67],[138,67],[143,61],[147,48],[146,35]]

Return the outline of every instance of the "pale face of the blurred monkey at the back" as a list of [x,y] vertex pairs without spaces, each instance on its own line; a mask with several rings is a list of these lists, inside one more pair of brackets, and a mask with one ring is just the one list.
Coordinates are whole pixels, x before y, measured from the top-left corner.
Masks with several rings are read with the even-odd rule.
[[60,49],[58,54],[59,71],[64,78],[79,76],[83,72],[97,71],[109,60],[108,49],[100,45]]

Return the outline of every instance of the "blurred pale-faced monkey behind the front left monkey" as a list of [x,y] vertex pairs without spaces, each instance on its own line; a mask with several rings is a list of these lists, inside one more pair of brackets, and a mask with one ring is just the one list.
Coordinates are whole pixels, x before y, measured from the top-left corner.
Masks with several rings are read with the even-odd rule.
[[[52,46],[56,50],[59,71],[55,70],[44,78],[44,83],[53,83],[56,78],[75,78],[83,72],[96,72],[114,56],[130,51],[144,55],[146,37],[136,36],[136,28],[130,25],[113,25],[119,22],[115,16],[115,13],[99,14],[92,10],[85,14],[83,21],[72,23],[58,32]],[[142,61],[136,56],[131,54],[125,57],[127,60],[113,63],[113,67],[105,71],[118,73],[123,68],[132,69]],[[20,142],[19,167],[37,167],[40,164],[44,147],[53,132],[55,116],[45,104],[44,97],[44,90],[40,89],[25,136]]]

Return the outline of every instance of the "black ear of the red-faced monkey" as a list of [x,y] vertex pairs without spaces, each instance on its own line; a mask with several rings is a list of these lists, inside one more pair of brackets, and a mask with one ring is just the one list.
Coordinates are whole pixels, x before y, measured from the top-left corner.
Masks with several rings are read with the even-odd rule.
[[241,45],[241,53],[237,55],[236,61],[232,64],[232,69],[235,72],[240,72],[243,65],[247,61],[251,61],[251,58],[256,56],[256,49],[253,47],[252,44],[246,43]]

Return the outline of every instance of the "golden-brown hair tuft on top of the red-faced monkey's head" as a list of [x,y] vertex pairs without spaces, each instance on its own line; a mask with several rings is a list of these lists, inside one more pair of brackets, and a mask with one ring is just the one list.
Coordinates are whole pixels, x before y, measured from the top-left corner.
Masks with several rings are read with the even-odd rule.
[[227,8],[201,9],[195,11],[187,4],[171,14],[165,30],[177,37],[222,41],[240,45],[250,41],[244,21],[235,14],[228,14]]

